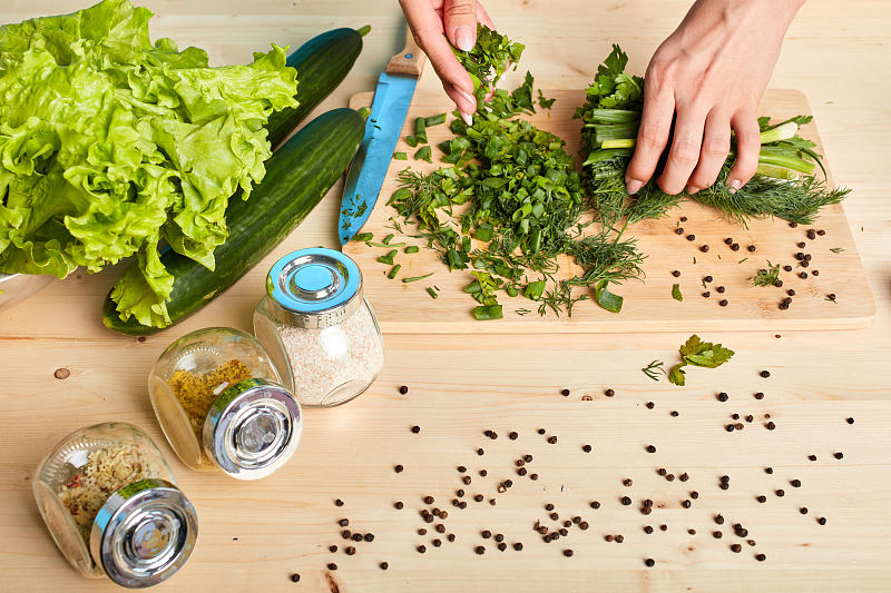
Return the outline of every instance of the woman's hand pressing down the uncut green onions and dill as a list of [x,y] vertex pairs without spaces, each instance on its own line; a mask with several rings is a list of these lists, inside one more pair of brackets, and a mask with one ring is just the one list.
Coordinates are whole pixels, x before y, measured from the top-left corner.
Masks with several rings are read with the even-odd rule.
[[644,115],[637,147],[625,175],[637,192],[656,170],[674,136],[658,178],[666,194],[688,194],[717,179],[736,136],[736,162],[727,177],[743,187],[758,164],[757,108],[792,18],[803,0],[697,0],[666,39],[646,72]]

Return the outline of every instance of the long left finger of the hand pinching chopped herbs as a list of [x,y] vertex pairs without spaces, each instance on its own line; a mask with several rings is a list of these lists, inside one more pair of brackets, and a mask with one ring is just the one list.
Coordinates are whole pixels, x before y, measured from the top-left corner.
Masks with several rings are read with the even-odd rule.
[[429,2],[400,0],[400,3],[414,40],[424,50],[433,70],[442,81],[446,93],[454,101],[462,116],[466,116],[464,120],[469,119],[469,116],[477,110],[473,81],[452,53],[452,48],[443,36],[442,21]]

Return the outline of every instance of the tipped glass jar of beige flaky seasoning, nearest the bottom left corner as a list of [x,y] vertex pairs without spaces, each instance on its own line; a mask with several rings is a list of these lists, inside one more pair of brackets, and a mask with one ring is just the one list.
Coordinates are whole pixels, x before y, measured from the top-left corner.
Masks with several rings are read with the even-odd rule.
[[69,435],[40,463],[32,486],[56,545],[84,576],[151,586],[195,547],[195,507],[155,443],[131,424]]

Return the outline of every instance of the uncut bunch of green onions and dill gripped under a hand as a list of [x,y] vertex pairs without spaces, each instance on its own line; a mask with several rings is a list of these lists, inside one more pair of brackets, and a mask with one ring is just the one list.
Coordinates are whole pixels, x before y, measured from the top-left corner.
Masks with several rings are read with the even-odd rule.
[[[728,219],[743,225],[750,218],[766,216],[809,224],[820,208],[838,204],[850,192],[829,189],[824,180],[813,177],[816,167],[823,168],[821,156],[813,150],[813,142],[797,136],[799,127],[810,122],[811,117],[797,116],[774,125],[770,118],[758,119],[762,142],[758,172],[736,192],[725,185],[735,160],[734,145],[712,187],[693,196],[669,196],[650,180],[629,197],[625,190],[625,169],[640,126],[644,79],[628,75],[627,62],[625,52],[613,46],[587,89],[587,101],[576,110],[576,118],[584,125],[582,178],[604,224],[615,226],[624,218],[628,224],[658,218],[682,197],[718,208]],[[659,164],[654,179],[663,165]]]

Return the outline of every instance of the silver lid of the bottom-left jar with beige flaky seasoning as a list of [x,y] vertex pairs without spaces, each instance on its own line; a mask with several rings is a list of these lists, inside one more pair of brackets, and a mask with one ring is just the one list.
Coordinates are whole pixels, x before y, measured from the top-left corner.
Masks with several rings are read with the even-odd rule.
[[99,508],[90,553],[114,582],[143,589],[182,569],[197,537],[195,507],[179,488],[164,480],[139,480]]

